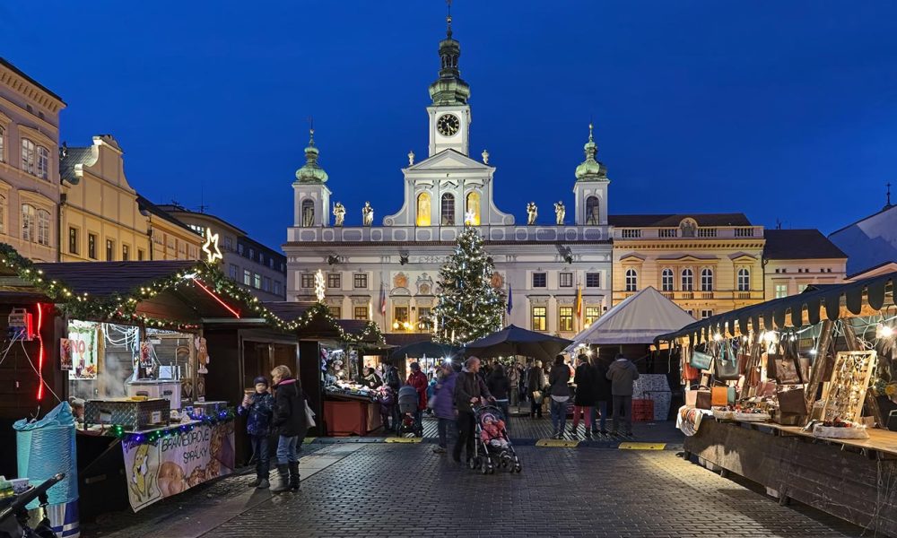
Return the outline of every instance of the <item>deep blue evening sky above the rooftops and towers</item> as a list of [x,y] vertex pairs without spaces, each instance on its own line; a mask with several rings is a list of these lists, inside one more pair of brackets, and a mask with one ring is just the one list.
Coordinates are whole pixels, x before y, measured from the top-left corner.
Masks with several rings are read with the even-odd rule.
[[[309,115],[334,200],[402,204],[427,150],[441,0],[16,2],[0,55],[114,134],[156,202],[205,204],[272,246],[292,223]],[[744,212],[836,230],[897,184],[897,3],[456,0],[471,152],[525,220],[572,203],[589,117],[612,213]],[[897,199],[897,195],[895,195]]]

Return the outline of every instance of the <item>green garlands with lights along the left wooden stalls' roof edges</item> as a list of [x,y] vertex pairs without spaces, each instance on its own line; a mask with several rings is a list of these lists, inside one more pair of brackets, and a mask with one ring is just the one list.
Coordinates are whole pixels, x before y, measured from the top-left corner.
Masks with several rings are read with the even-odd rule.
[[290,322],[284,321],[267,308],[249,291],[231,281],[218,265],[197,262],[186,272],[179,272],[168,277],[149,282],[135,288],[130,293],[112,293],[105,298],[90,297],[88,293],[77,293],[65,282],[49,279],[34,262],[19,254],[13,247],[0,243],[0,262],[13,270],[25,282],[30,282],[48,299],[57,303],[57,307],[74,319],[104,321],[123,325],[144,325],[157,328],[196,329],[198,325],[179,324],[171,320],[148,317],[137,313],[140,301],[151,299],[158,293],[183,285],[201,286],[215,293],[222,294],[248,305],[256,317],[261,317],[268,325],[283,332],[294,332],[308,326],[314,319],[323,319],[340,339],[345,343],[385,342],[379,327],[368,322],[360,334],[349,334],[344,331],[326,306],[316,303],[302,316]]

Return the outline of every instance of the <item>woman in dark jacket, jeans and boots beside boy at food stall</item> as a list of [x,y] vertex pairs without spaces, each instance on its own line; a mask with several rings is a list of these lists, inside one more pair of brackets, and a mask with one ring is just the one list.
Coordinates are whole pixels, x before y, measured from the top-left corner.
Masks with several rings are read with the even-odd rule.
[[309,430],[305,418],[305,398],[299,379],[292,377],[289,367],[271,370],[274,382],[274,414],[271,425],[277,438],[277,473],[280,482],[271,489],[274,493],[299,490],[299,458],[297,448]]

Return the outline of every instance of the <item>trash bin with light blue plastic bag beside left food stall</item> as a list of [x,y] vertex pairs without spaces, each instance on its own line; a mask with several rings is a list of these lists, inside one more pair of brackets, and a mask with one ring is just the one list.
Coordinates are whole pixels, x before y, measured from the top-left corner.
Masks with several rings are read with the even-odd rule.
[[[13,424],[19,476],[32,484],[57,473],[65,480],[47,491],[47,516],[53,532],[64,538],[81,535],[78,518],[78,468],[74,444],[74,416],[68,402],[57,405],[39,421],[22,419]],[[37,508],[34,500],[28,508]]]

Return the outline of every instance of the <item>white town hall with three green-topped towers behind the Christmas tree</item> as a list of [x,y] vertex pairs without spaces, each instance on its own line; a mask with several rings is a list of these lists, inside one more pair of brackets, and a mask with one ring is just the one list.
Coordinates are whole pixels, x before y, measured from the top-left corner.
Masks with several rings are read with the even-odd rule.
[[470,225],[480,230],[494,261],[492,284],[511,297],[506,324],[572,336],[611,304],[610,181],[595,159],[591,127],[586,160],[570,178],[571,211],[550,211],[550,225],[536,223],[535,215],[532,223],[516,222],[494,203],[496,168],[488,153],[470,154],[470,88],[460,77],[459,56],[449,19],[440,42],[440,77],[430,86],[429,152],[422,161],[408,154],[402,169],[405,202],[396,213],[382,219],[370,213],[370,223],[344,226],[347,210],[330,202],[338,200],[338,179],[332,193],[318,165],[318,148],[313,138],[309,142],[293,182],[294,221],[283,245],[287,299],[313,300],[320,270],[335,316],[372,319],[388,333],[426,332],[423,322],[439,298],[440,267],[458,233]]

